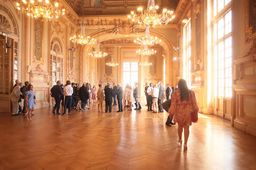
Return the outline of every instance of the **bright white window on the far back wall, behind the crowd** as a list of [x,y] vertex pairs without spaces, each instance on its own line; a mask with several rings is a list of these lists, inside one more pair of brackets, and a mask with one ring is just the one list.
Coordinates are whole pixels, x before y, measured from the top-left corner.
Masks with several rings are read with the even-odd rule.
[[134,83],[138,83],[138,62],[123,62],[123,86],[128,83],[130,86],[134,86]]

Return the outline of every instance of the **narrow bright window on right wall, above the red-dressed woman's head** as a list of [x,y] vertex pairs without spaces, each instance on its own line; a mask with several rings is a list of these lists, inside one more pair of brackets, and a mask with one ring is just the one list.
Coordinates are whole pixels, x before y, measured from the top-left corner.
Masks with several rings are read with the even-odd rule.
[[184,58],[184,79],[188,83],[188,87],[191,87],[191,22],[190,19],[186,23],[183,29],[183,58]]

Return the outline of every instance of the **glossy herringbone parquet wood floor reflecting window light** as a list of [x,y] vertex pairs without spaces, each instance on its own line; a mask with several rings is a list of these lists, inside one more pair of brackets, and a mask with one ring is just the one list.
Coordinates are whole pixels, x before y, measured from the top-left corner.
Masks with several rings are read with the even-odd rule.
[[0,114],[0,169],[256,169],[256,138],[221,117],[200,114],[183,151],[177,125],[165,126],[166,112],[91,108],[64,116],[43,108],[34,111],[32,122]]

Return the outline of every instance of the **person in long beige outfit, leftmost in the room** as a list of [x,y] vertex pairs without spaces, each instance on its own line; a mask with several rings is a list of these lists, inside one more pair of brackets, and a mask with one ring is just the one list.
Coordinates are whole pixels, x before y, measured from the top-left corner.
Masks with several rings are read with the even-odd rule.
[[23,83],[19,83],[18,86],[15,86],[11,93],[11,101],[12,101],[12,116],[17,116],[19,114],[19,99],[20,95],[20,88],[23,87]]

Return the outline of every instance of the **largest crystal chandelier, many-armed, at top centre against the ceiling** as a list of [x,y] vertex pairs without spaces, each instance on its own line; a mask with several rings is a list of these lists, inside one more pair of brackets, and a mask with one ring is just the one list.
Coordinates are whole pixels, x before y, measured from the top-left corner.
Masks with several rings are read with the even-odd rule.
[[131,11],[128,18],[131,18],[133,22],[140,24],[140,26],[141,24],[144,24],[152,27],[162,25],[162,23],[167,25],[172,19],[175,18],[173,11],[164,8],[161,14],[157,14],[158,9],[159,6],[155,6],[155,0],[148,0],[147,10],[144,10],[144,13],[143,8],[138,7],[137,10],[141,12],[141,14],[136,14],[136,12]]

